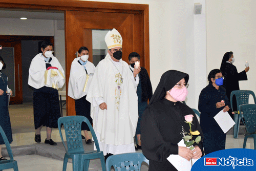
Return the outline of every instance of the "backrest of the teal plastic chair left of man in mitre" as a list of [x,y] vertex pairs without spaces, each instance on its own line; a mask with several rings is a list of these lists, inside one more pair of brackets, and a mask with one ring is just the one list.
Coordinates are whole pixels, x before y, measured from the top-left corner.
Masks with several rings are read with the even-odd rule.
[[[89,126],[89,129],[91,131],[91,134],[94,140],[94,144],[97,148],[97,152],[100,151],[99,143],[90,121],[84,116],[65,116],[65,117],[60,117],[58,119],[58,129],[59,129],[60,138],[66,149],[66,153],[68,155],[73,153],[81,153],[81,154],[84,153],[83,143],[81,138],[82,122],[86,122],[87,125]],[[63,137],[61,133],[61,124],[63,124],[64,130],[65,130],[67,146],[63,141]]]

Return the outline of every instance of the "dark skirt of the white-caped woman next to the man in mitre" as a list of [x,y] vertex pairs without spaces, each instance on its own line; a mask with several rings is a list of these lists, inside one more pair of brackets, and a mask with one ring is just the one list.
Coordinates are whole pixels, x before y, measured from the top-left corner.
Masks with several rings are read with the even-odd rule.
[[[93,123],[93,119],[91,118],[91,103],[86,100],[86,96],[75,100],[75,107],[76,107],[76,115],[78,116],[85,116],[90,123]],[[82,123],[81,130],[88,130],[90,131],[88,125],[86,123]]]

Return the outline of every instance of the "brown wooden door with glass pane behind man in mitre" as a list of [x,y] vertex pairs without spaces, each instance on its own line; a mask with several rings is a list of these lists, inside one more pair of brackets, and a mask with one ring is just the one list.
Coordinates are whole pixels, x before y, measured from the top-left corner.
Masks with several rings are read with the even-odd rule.
[[[89,49],[89,61],[92,60],[92,30],[93,29],[117,29],[123,39],[122,60],[128,62],[128,56],[135,50],[141,54],[141,63],[144,67],[144,43],[141,29],[143,23],[140,23],[140,14],[132,13],[112,13],[112,12],[82,12],[66,11],[66,86],[70,75],[71,63],[74,60],[74,54],[81,46]],[[143,17],[142,17],[143,20]],[[137,23],[138,25],[135,25]],[[136,33],[135,31],[136,30]],[[142,31],[143,33],[143,31]],[[136,47],[135,47],[136,41]],[[68,96],[67,96],[68,97]],[[75,115],[74,99],[67,98],[67,115]]]

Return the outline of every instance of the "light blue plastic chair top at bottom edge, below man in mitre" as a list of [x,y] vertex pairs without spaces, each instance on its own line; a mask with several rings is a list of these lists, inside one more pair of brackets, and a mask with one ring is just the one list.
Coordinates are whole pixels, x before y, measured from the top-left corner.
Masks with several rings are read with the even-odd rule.
[[142,153],[124,153],[113,155],[106,159],[106,171],[110,171],[111,166],[114,166],[115,171],[140,171],[141,163],[143,161],[149,165],[149,161]]

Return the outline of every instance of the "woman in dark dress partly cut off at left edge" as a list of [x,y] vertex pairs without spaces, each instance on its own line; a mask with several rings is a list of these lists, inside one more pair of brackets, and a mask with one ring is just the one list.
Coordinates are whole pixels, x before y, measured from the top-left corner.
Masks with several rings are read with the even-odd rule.
[[[7,95],[7,86],[8,78],[2,73],[2,69],[5,69],[6,65],[3,58],[0,56],[0,125],[2,126],[9,143],[12,142],[12,128],[11,121],[8,111],[8,95]],[[11,92],[12,95],[12,92]],[[5,144],[2,136],[0,136],[0,160],[6,160],[1,154],[2,145]]]

